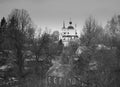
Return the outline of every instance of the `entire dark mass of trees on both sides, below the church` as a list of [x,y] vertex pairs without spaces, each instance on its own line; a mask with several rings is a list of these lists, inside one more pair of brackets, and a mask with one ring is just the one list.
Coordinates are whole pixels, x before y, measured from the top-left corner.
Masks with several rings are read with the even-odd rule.
[[76,41],[64,47],[59,32],[38,33],[28,12],[14,9],[0,22],[0,86],[45,87],[52,60],[70,64],[82,87],[119,87],[120,16],[103,28],[89,17]]

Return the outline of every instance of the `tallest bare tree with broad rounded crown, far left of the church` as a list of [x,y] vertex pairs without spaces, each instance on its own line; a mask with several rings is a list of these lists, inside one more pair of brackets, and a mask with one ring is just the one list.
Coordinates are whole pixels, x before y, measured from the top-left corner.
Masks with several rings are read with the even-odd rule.
[[27,34],[32,28],[32,21],[28,12],[24,9],[14,9],[8,16],[8,36],[11,47],[16,54],[18,75],[24,77],[24,48]]

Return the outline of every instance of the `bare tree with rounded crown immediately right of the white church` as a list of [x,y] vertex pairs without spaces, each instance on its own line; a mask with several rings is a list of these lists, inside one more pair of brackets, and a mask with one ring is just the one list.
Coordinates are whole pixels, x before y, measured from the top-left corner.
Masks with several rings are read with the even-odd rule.
[[83,34],[81,35],[81,45],[92,46],[98,44],[99,36],[102,32],[102,27],[97,24],[94,18],[89,17],[84,25]]

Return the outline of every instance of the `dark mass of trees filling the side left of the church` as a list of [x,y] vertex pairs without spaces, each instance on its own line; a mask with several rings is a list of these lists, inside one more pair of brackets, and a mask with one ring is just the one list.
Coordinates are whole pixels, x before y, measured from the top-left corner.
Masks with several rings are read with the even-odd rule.
[[0,86],[43,87],[51,60],[62,52],[59,32],[35,38],[35,26],[28,12],[14,9],[0,22]]

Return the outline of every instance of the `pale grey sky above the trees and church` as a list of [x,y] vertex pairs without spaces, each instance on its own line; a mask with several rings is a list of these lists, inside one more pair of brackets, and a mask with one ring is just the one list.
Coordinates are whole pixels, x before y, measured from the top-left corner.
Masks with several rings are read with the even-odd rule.
[[26,9],[33,22],[44,29],[60,30],[71,18],[81,30],[85,20],[93,16],[105,26],[115,14],[120,14],[120,0],[0,0],[0,18],[14,8]]

